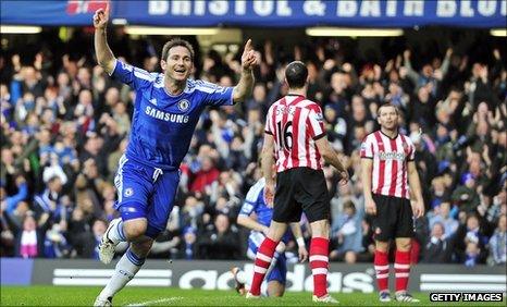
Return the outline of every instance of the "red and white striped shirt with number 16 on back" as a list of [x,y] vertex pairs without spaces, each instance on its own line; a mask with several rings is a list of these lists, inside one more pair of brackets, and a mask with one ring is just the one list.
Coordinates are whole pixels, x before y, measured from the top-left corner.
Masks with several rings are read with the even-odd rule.
[[264,132],[274,137],[276,172],[322,169],[316,140],[325,136],[325,130],[322,110],[316,102],[304,96],[285,96],[268,111]]

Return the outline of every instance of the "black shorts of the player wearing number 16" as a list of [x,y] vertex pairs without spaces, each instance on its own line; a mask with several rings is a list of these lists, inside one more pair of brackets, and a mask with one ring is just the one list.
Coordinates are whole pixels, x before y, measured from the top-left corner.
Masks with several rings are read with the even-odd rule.
[[294,168],[276,174],[273,221],[299,222],[302,212],[310,223],[330,219],[330,198],[322,170]]

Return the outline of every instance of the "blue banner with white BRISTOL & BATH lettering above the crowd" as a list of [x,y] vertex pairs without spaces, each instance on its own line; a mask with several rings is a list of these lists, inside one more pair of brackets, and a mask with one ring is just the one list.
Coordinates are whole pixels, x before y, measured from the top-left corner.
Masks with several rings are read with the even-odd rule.
[[[90,25],[108,1],[1,1],[1,24]],[[505,27],[507,0],[111,1],[133,25],[251,27]]]

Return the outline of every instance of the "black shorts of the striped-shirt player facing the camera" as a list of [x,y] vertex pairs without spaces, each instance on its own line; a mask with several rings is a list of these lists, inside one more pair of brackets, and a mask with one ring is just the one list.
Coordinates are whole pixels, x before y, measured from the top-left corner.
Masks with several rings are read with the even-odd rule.
[[413,212],[407,198],[373,194],[376,216],[372,219],[376,241],[413,237]]

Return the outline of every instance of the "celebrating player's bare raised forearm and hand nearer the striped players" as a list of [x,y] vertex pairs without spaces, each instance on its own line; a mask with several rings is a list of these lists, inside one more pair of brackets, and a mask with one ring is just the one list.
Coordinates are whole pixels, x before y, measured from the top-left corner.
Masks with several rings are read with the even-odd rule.
[[242,77],[239,78],[237,85],[234,87],[234,103],[245,101],[245,99],[250,96],[253,89],[252,70],[257,64],[257,60],[256,51],[251,46],[251,39],[248,39],[242,56]]

